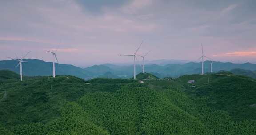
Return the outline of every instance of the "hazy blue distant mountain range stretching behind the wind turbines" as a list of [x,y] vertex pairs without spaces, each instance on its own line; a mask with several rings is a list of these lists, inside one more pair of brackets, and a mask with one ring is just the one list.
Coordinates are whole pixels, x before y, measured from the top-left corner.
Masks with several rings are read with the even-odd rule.
[[[38,59],[25,59],[23,63],[23,73],[26,76],[48,76],[52,75],[52,62],[45,62]],[[188,62],[185,64],[146,64],[145,71],[153,75],[164,77],[178,77],[180,75],[198,74],[201,72],[201,63]],[[19,73],[19,68],[15,68],[18,63],[15,60],[0,61],[0,70],[8,69]],[[164,64],[164,65],[162,65]],[[205,61],[205,72],[210,71],[210,61]],[[240,69],[240,70],[238,70]],[[256,71],[256,64],[244,63],[234,64],[230,62],[214,62],[213,72],[221,70],[231,71],[234,74],[250,76]],[[141,65],[136,65],[136,73],[142,72]],[[131,78],[133,75],[132,65],[100,64],[87,68],[80,68],[69,64],[56,64],[57,75],[74,75],[83,79],[92,79],[96,77],[105,78]],[[251,75],[253,77],[253,75]]]

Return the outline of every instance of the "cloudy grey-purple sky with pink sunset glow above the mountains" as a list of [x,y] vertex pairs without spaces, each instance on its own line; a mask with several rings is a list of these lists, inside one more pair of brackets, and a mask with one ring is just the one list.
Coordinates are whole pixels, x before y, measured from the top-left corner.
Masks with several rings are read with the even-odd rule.
[[61,64],[146,60],[256,63],[256,0],[0,0],[0,60]]

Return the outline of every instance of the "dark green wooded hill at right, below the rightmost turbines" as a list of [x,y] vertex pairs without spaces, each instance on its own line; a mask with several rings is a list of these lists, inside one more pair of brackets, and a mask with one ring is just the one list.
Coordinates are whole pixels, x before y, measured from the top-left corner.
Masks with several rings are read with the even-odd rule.
[[[195,80],[188,84],[188,80]],[[179,78],[188,93],[207,97],[209,107],[227,111],[235,120],[256,120],[256,80],[233,74],[186,75]],[[196,86],[190,87],[191,85]]]

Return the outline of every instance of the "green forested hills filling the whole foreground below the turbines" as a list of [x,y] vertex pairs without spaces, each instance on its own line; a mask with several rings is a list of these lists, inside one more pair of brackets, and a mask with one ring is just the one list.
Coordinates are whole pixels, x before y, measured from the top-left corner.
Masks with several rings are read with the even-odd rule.
[[255,79],[220,73],[29,78],[0,83],[0,135],[255,135],[255,96]]

